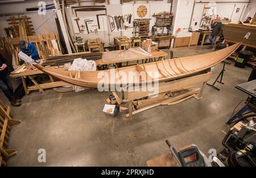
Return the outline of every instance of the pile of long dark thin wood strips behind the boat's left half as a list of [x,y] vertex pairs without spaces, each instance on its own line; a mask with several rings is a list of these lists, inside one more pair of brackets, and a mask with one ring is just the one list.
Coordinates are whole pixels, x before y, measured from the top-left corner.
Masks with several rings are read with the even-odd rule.
[[64,65],[64,63],[73,62],[75,58],[82,58],[86,60],[100,60],[102,58],[102,53],[75,53],[75,54],[65,54],[62,56],[51,56],[48,57],[43,66],[56,66]]

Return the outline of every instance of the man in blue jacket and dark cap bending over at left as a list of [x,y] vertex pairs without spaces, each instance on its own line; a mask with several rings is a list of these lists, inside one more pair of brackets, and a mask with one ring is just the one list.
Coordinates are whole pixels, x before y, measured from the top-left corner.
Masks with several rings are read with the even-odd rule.
[[27,54],[27,56],[31,57],[33,60],[39,60],[39,54],[38,50],[36,50],[36,47],[32,43],[27,43],[26,41],[19,41],[20,50]]

